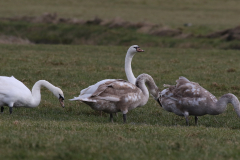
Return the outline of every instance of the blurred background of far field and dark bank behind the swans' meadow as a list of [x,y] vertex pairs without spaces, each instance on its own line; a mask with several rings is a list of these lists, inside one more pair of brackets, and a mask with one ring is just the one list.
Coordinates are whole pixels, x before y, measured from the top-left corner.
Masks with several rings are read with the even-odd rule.
[[240,49],[237,0],[9,0],[0,43]]

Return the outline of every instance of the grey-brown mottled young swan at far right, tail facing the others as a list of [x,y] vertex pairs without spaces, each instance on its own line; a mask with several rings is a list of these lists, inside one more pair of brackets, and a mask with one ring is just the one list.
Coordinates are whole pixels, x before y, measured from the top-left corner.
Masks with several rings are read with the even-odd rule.
[[185,77],[179,77],[176,82],[176,86],[164,85],[169,88],[161,92],[159,101],[168,112],[184,116],[187,125],[189,125],[189,115],[195,116],[195,124],[197,124],[197,116],[221,114],[225,111],[228,103],[233,105],[240,117],[240,103],[235,95],[228,93],[217,100],[198,83],[191,82]]

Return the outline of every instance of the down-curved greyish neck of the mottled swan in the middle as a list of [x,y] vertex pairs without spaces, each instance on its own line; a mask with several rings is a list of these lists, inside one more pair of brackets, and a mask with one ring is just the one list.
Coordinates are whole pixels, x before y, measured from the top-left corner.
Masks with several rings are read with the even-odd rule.
[[145,84],[148,86],[149,92],[153,95],[153,97],[157,98],[158,87],[156,86],[153,78],[148,74],[139,75],[136,80],[136,86],[142,90],[144,96],[149,97],[148,89]]

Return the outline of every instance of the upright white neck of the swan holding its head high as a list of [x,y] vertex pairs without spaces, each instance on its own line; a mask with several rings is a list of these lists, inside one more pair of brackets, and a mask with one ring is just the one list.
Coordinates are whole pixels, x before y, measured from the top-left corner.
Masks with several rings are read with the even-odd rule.
[[134,54],[131,54],[129,51],[127,52],[127,55],[125,58],[125,72],[126,72],[128,81],[132,84],[135,84],[136,78],[133,75],[132,66],[131,66],[133,56]]

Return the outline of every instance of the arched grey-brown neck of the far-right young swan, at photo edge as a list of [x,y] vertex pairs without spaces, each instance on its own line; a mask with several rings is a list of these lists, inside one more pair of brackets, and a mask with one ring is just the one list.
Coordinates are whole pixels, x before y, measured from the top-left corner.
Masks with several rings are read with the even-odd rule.
[[212,114],[221,114],[225,111],[225,109],[227,108],[227,104],[231,103],[235,109],[235,111],[237,112],[238,117],[240,118],[240,103],[238,98],[231,94],[225,94],[223,95],[218,101],[217,103],[215,103],[215,110],[212,111]]

